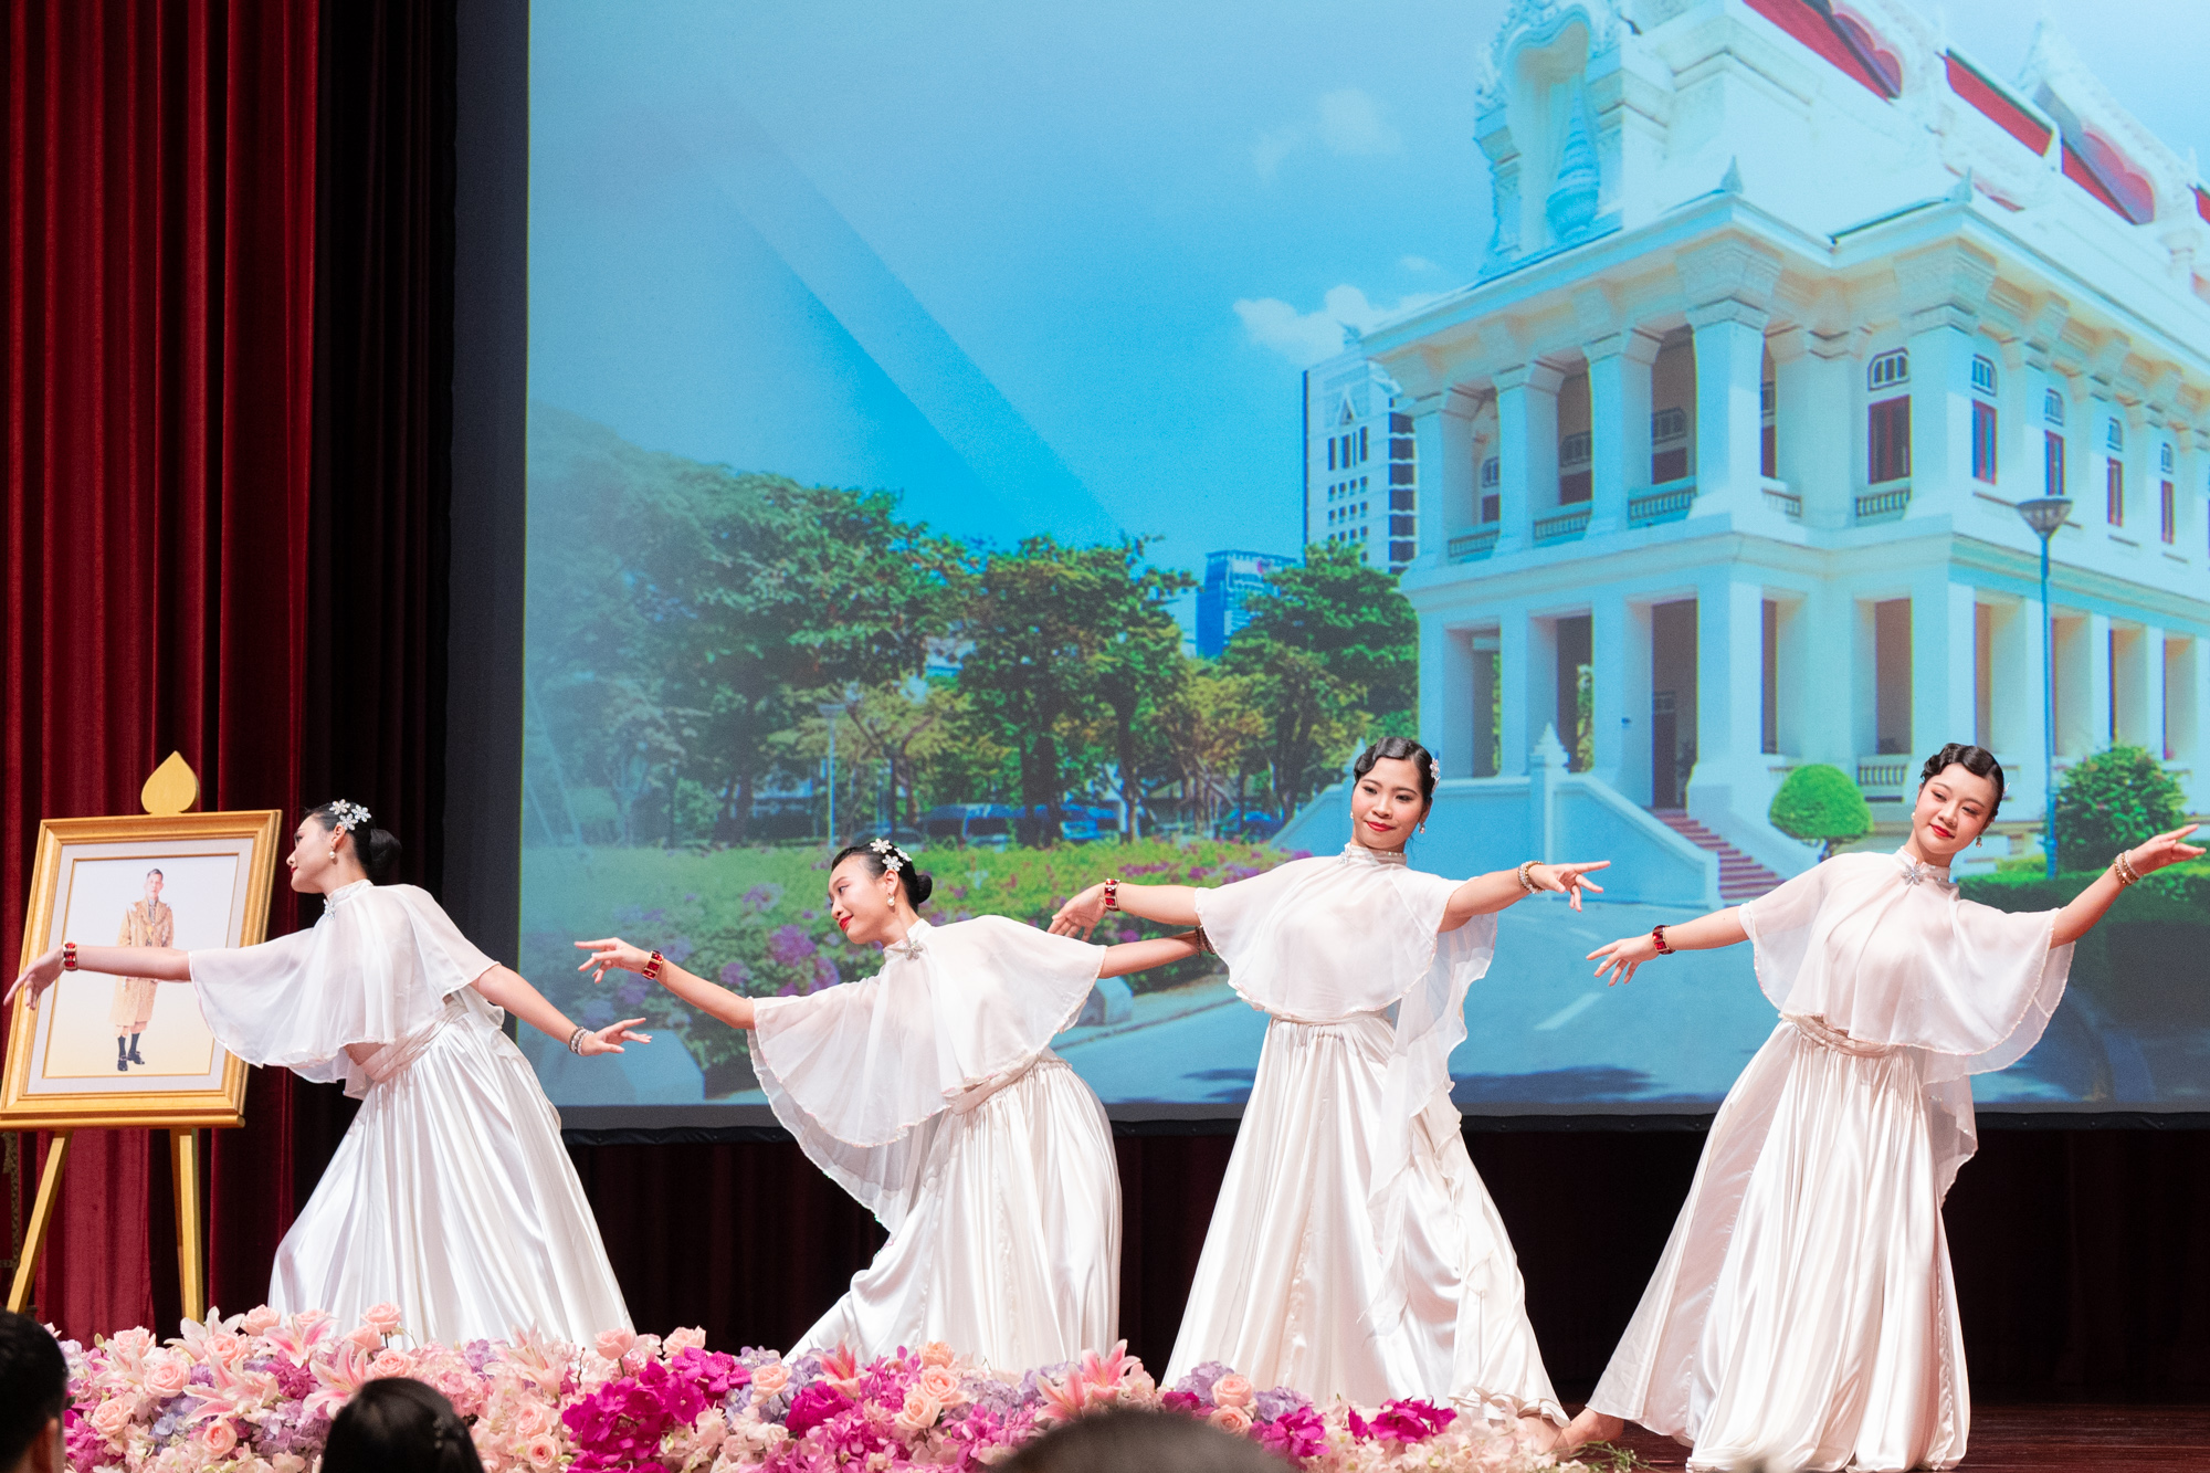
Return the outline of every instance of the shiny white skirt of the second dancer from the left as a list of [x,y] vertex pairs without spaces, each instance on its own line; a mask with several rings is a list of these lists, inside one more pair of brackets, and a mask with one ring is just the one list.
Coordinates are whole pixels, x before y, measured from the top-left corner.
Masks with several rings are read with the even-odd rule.
[[944,1340],[1003,1371],[1109,1349],[1120,1318],[1120,1172],[1105,1106],[1045,1051],[915,1126],[926,1163],[891,1241],[793,1347],[862,1358]]

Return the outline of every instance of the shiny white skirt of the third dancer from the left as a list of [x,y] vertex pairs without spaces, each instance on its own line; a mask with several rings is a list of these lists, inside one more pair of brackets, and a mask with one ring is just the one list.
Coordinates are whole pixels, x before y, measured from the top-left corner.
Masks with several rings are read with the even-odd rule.
[[[1368,1199],[1390,1044],[1379,1013],[1266,1026],[1160,1385],[1220,1360],[1322,1402],[1419,1396],[1562,1422],[1512,1241],[1454,1110],[1417,1128],[1403,1245],[1381,1263]],[[1390,1287],[1403,1314],[1377,1323]]]

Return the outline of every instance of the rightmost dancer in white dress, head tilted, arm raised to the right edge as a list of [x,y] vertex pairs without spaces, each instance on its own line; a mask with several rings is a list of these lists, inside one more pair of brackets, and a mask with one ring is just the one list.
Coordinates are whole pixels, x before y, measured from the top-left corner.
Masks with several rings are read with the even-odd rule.
[[2119,854],[2060,911],[1949,882],[2002,767],[1927,759],[1896,854],[1841,854],[1746,905],[1591,953],[1624,982],[1748,940],[1781,1011],[1726,1093],[1688,1203],[1567,1444],[1642,1422],[1691,1469],[1947,1469],[1971,1398],[1940,1203],[1976,1146],[1969,1075],[2016,1064],[2064,995],[2071,942],[2119,889],[2195,858],[2192,825]]

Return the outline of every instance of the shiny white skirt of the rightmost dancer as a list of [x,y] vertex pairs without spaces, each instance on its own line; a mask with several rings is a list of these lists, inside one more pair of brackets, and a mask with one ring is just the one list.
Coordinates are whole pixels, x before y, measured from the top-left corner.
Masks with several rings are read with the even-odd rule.
[[1947,1469],[1971,1398],[1920,1064],[1812,1033],[1728,1090],[1589,1404],[1691,1469]]

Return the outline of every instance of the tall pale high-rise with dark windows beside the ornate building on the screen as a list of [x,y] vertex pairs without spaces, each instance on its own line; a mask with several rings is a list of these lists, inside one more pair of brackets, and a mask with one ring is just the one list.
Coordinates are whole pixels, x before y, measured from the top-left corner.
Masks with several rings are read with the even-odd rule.
[[1357,345],[1304,376],[1304,535],[1401,573],[1419,555],[1419,462],[1397,385]]

